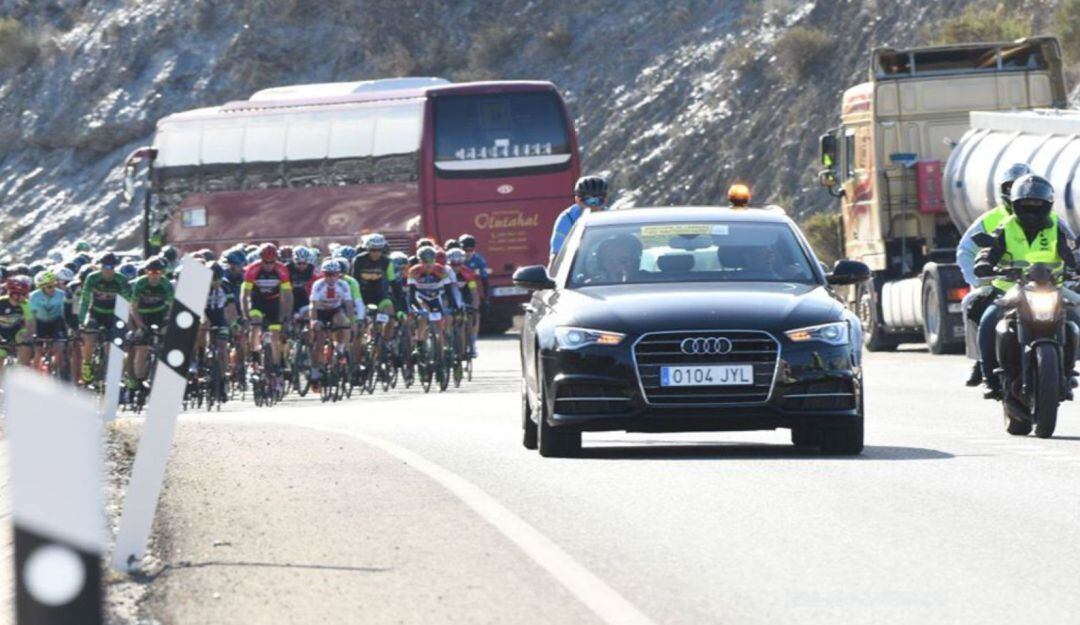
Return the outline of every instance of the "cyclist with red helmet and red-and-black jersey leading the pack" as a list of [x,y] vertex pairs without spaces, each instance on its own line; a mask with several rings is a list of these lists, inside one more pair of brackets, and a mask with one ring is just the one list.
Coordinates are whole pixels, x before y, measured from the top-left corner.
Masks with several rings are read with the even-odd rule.
[[241,307],[252,325],[253,345],[259,345],[264,329],[270,332],[274,366],[281,366],[281,324],[293,311],[293,284],[288,268],[278,261],[278,246],[264,243],[259,261],[244,269]]

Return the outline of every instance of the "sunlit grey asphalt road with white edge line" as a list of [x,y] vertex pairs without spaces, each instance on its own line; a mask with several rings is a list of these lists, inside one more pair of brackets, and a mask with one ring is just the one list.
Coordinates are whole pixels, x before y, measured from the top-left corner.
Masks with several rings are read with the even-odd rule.
[[145,614],[164,623],[1076,623],[1080,410],[1014,438],[968,361],[867,357],[859,458],[787,431],[519,444],[477,379],[181,419]]

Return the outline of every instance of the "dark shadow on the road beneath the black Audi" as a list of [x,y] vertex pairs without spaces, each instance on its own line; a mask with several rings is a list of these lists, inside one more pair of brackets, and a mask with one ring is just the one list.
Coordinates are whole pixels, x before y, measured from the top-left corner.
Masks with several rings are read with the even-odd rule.
[[[591,443],[624,443],[622,440],[592,440]],[[861,456],[829,456],[794,445],[760,445],[751,443],[688,443],[643,441],[635,445],[583,447],[581,458],[598,460],[947,460],[951,453],[922,447],[890,447],[867,445]]]

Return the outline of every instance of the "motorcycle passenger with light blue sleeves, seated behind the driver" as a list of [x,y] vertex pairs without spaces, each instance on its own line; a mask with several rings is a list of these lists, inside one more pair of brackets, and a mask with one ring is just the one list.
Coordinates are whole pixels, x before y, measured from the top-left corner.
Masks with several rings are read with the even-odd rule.
[[[978,219],[968,227],[968,230],[960,239],[960,244],[956,248],[956,263],[960,266],[963,281],[971,287],[971,291],[964,297],[963,310],[968,320],[978,323],[983,313],[1001,294],[997,293],[989,281],[980,280],[975,276],[975,255],[978,254],[980,246],[975,243],[975,235],[980,232],[994,234],[1008,217],[1012,215],[1012,202],[1009,194],[1012,191],[1013,182],[1021,176],[1031,173],[1031,168],[1025,163],[1014,163],[998,177],[998,198],[1001,203],[993,209],[983,213]],[[978,358],[972,367],[971,376],[964,382],[968,386],[977,386],[983,381],[983,369]]]

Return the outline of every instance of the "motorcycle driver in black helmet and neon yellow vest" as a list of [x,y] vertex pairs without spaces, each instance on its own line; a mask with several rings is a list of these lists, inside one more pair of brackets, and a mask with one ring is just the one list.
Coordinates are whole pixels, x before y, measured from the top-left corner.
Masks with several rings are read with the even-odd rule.
[[[1077,269],[1076,240],[1058,222],[1053,213],[1054,188],[1041,176],[1028,174],[1013,182],[1010,192],[1013,215],[1005,218],[994,233],[994,243],[978,254],[974,275],[988,277],[995,267],[1024,266],[1041,262],[1054,270],[1068,267]],[[999,293],[1007,293],[1014,283],[995,277],[991,282]],[[998,368],[995,328],[1003,311],[991,302],[978,322],[978,351],[982,355],[983,379],[987,399],[1000,399],[1001,381],[994,373]],[[1075,313],[1069,314],[1075,321]],[[1066,371],[1074,370],[1076,351],[1066,353]]]

